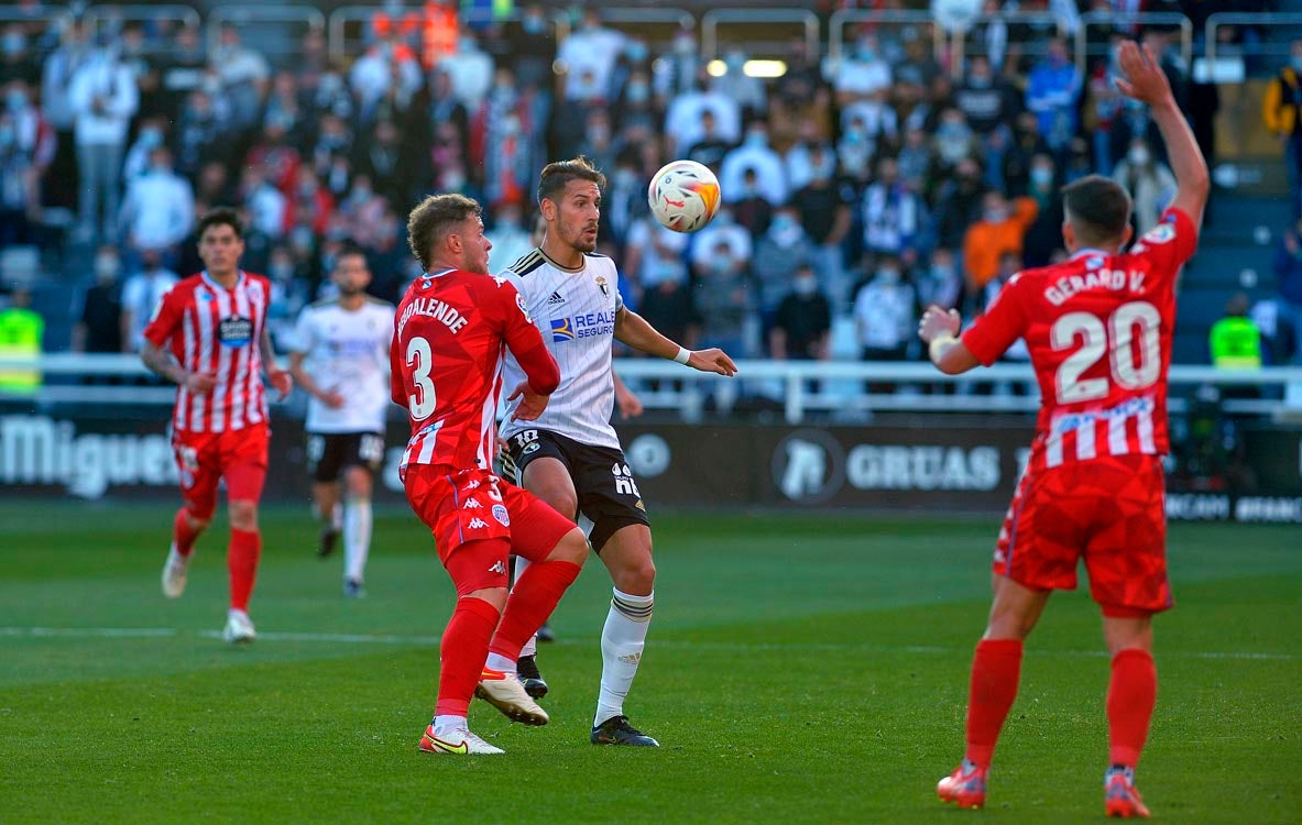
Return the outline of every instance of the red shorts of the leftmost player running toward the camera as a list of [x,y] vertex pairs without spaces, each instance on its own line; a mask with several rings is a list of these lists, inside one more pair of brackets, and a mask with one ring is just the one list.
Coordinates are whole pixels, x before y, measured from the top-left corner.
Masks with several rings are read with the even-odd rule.
[[172,452],[181,475],[181,496],[202,519],[217,507],[217,481],[227,480],[230,501],[258,501],[267,480],[267,423],[224,432],[172,432]]

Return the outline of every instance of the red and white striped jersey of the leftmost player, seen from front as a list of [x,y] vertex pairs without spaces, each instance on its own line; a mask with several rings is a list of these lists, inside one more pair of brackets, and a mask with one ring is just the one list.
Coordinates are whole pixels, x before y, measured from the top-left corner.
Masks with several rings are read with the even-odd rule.
[[177,388],[174,429],[225,432],[267,420],[260,344],[270,297],[267,278],[242,271],[230,289],[201,272],[163,297],[145,337],[159,347],[169,345],[190,372],[217,376],[206,394]]

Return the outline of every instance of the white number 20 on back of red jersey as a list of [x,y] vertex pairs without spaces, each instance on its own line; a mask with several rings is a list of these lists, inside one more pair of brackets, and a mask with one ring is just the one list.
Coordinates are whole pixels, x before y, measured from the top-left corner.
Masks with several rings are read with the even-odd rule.
[[[1161,314],[1147,301],[1124,303],[1108,318],[1108,325],[1088,312],[1068,312],[1053,323],[1049,342],[1065,350],[1082,338],[1081,349],[1072,353],[1057,371],[1059,403],[1078,403],[1107,398],[1107,377],[1081,376],[1111,353],[1112,380],[1122,389],[1143,389],[1157,381],[1161,372],[1159,328]],[[1133,342],[1139,341],[1138,359]]]

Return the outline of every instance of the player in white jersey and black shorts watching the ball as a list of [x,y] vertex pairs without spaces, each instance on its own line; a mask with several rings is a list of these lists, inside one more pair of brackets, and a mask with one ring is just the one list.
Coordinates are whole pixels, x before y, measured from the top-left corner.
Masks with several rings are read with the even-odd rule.
[[[656,746],[629,724],[624,699],[633,684],[651,621],[655,563],[651,528],[637,481],[611,427],[615,340],[702,372],[734,375],[723,350],[689,351],[624,306],[615,262],[596,255],[605,176],[587,159],[548,164],[538,183],[547,221],[542,245],[503,273],[525,298],[556,363],[561,384],[533,422],[509,416],[501,437],[514,480],[578,521],[592,522],[589,540],[615,586],[602,630],[602,687],[592,720],[594,744]],[[508,355],[504,377],[521,375]],[[487,668],[516,670],[490,656]]]

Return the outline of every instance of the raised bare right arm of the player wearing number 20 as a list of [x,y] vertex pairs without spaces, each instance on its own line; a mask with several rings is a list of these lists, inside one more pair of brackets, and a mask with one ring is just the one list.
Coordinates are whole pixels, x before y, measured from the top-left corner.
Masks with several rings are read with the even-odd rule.
[[1176,105],[1170,83],[1147,46],[1141,48],[1133,40],[1122,43],[1120,61],[1128,79],[1117,78],[1117,88],[1128,98],[1148,104],[1152,120],[1167,144],[1167,159],[1176,176],[1176,196],[1170,206],[1187,215],[1195,226],[1200,226],[1211,193],[1211,176],[1194,133]]

